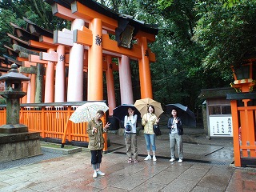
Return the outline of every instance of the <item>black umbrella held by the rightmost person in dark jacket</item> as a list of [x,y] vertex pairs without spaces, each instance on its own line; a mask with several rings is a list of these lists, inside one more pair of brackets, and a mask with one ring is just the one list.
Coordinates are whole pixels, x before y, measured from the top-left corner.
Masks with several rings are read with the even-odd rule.
[[180,103],[167,104],[166,112],[171,114],[172,110],[177,110],[178,117],[182,119],[182,124],[186,126],[196,126],[194,113],[187,106]]

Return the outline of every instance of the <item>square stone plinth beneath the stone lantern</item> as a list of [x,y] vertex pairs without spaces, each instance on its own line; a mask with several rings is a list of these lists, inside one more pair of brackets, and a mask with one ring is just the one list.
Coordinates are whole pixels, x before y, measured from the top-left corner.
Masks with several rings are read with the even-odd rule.
[[[22,124],[11,126],[15,127],[11,129],[12,131],[10,131],[10,125],[0,126],[0,162],[42,154],[39,132],[27,132],[27,127]],[[16,130],[14,131],[16,133],[13,133],[13,130]]]

